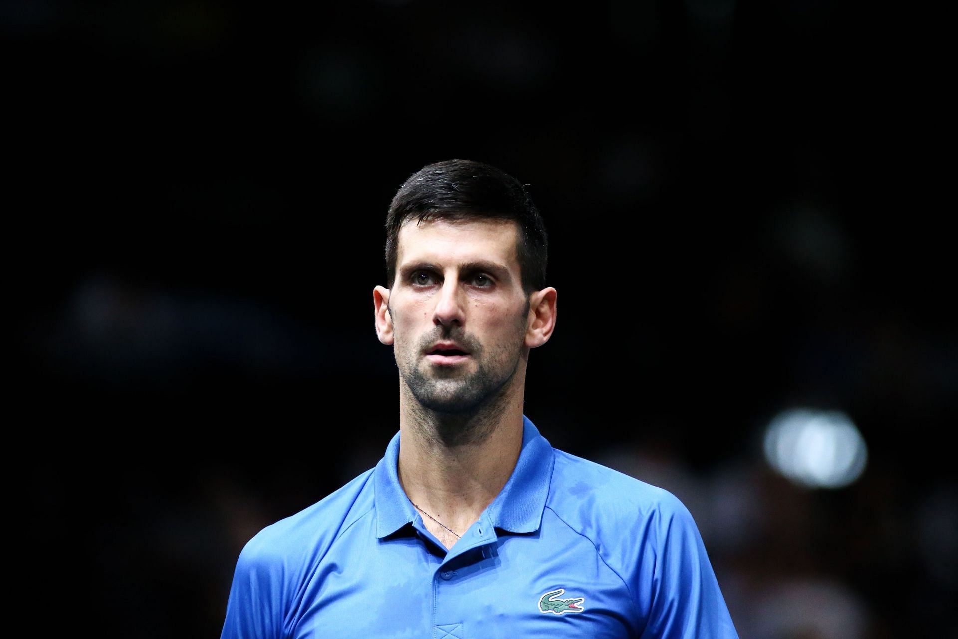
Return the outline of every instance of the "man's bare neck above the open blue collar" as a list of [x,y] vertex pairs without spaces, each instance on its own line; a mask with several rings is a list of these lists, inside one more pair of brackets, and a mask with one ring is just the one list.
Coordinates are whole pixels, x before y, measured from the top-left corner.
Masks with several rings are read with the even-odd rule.
[[[410,501],[462,535],[513,473],[522,448],[523,395],[518,385],[518,392],[473,413],[440,414],[400,393],[399,482]],[[435,532],[433,522],[423,521]]]

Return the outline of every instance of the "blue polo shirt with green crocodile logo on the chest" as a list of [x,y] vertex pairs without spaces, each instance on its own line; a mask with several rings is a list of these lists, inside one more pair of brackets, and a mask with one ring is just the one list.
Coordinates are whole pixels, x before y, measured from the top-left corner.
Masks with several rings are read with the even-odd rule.
[[738,637],[673,495],[553,448],[522,451],[448,551],[376,468],[264,528],[239,555],[222,639]]

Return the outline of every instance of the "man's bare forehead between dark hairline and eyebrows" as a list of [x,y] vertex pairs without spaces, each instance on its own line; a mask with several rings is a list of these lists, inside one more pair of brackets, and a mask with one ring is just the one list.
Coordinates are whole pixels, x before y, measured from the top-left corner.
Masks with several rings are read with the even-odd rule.
[[397,262],[477,262],[494,260],[519,270],[519,227],[511,219],[436,219],[399,227]]

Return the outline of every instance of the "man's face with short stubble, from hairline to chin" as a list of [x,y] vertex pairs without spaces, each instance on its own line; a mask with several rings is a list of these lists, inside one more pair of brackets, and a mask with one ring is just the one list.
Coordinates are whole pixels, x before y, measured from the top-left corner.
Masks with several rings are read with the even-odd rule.
[[422,406],[468,412],[524,362],[529,298],[518,234],[512,221],[486,219],[413,220],[399,229],[392,332],[380,340],[392,340],[399,376]]

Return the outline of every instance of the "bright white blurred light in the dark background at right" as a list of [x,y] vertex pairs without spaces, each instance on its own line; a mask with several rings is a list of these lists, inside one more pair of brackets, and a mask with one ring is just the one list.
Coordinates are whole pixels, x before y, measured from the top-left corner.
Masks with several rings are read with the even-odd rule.
[[768,424],[764,448],[772,468],[809,488],[844,488],[868,460],[861,433],[839,411],[787,410]]

